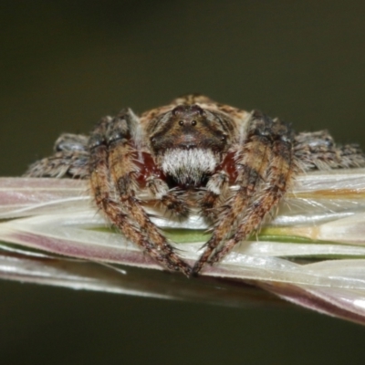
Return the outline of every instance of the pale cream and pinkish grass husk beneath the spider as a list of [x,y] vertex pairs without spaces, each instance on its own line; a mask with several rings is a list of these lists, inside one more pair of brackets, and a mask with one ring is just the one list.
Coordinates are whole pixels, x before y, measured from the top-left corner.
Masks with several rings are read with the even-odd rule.
[[[207,238],[203,219],[163,217],[153,203],[146,209],[193,263]],[[88,182],[2,178],[0,218],[3,278],[229,306],[279,303],[249,283],[300,306],[365,323],[364,169],[297,177],[259,241],[252,237],[193,279],[162,272],[110,230],[92,203]]]

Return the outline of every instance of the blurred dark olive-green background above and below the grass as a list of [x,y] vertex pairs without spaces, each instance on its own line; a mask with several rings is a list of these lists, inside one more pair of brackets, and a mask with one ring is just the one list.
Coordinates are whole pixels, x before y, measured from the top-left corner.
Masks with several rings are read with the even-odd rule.
[[[0,172],[61,132],[201,92],[365,147],[363,1],[2,1]],[[0,282],[6,364],[358,364],[365,328],[304,309],[222,308]]]

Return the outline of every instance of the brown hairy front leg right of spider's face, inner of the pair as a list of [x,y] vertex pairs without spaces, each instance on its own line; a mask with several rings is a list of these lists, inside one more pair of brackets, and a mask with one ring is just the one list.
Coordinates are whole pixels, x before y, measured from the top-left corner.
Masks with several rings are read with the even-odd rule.
[[198,273],[209,262],[214,251],[239,226],[243,214],[251,204],[257,189],[266,178],[267,168],[272,150],[273,120],[258,111],[253,112],[242,146],[237,146],[235,184],[238,190],[225,203],[221,219],[214,226],[212,237],[205,245],[203,255],[195,263],[193,273]]

